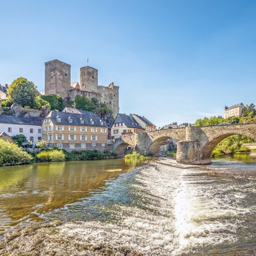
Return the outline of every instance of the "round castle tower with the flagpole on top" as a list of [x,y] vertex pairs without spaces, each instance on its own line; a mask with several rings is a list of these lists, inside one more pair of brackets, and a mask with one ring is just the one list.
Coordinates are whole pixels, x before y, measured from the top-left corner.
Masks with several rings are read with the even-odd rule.
[[89,66],[80,68],[80,89],[98,93],[98,69]]

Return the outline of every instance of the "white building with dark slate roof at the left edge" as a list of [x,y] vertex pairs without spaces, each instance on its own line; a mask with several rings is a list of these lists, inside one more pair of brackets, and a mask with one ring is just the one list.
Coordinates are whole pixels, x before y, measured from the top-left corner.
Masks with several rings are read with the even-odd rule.
[[32,146],[42,140],[42,118],[0,115],[0,132],[5,132],[10,137],[25,135]]

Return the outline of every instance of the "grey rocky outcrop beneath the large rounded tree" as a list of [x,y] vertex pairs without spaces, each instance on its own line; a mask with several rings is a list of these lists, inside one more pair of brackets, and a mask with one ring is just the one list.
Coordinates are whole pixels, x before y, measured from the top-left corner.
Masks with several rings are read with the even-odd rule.
[[50,107],[45,105],[42,106],[41,110],[23,108],[18,103],[13,103],[11,106],[11,113],[13,116],[20,116],[23,118],[29,117],[45,117],[50,113]]

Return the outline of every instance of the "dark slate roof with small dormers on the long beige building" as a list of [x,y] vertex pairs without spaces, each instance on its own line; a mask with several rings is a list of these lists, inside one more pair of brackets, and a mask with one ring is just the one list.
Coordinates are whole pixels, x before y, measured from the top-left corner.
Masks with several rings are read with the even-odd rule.
[[[60,111],[51,111],[45,118],[50,118],[53,124],[63,125],[76,125],[76,126],[87,126],[87,127],[108,127],[106,122],[99,118],[96,114],[80,110],[81,113],[67,113]],[[61,118],[61,122],[57,121],[57,117]],[[72,123],[69,123],[69,119],[72,119]],[[81,124],[83,120],[83,124]],[[94,124],[91,124],[91,120]],[[103,122],[103,124],[101,124]]]

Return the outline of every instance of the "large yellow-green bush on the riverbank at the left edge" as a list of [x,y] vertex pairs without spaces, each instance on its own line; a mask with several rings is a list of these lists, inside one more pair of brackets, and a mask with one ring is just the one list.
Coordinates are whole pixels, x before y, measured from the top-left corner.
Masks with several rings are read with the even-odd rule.
[[31,159],[31,155],[15,143],[0,139],[0,166],[28,164]]

